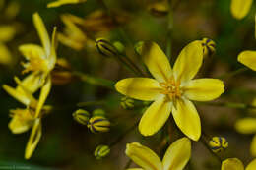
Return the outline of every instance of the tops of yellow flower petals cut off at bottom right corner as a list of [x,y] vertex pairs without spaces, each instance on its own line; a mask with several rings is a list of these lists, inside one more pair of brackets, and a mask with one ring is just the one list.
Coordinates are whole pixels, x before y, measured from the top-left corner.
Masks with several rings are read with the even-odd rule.
[[[252,160],[245,170],[255,170],[256,159]],[[237,158],[228,158],[222,163],[222,170],[244,170],[243,163]]]

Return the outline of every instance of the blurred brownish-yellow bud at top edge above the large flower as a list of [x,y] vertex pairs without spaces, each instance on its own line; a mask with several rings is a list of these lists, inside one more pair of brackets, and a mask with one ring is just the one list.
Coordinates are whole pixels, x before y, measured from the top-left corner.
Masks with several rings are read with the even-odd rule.
[[165,1],[157,2],[157,3],[150,4],[148,7],[148,10],[155,17],[163,17],[168,14],[168,10],[169,10],[168,7],[169,6]]

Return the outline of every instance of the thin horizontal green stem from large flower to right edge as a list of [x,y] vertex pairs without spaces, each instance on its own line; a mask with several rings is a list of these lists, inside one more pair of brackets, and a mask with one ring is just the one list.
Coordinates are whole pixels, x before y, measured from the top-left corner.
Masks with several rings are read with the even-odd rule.
[[230,107],[237,109],[256,109],[256,106],[245,104],[245,103],[235,103],[235,102],[197,102],[198,104],[219,106],[219,107]]

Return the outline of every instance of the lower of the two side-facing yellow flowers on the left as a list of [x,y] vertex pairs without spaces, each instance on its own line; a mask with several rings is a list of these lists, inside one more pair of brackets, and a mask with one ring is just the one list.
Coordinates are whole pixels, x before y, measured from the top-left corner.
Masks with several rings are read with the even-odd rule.
[[[41,118],[49,111],[49,106],[39,105],[33,96],[34,93],[41,86],[41,79],[32,73],[23,81],[15,78],[18,86],[12,88],[8,85],[3,85],[3,88],[18,101],[26,105],[26,109],[11,110],[12,120],[9,123],[9,128],[14,134],[20,134],[32,128],[32,133],[25,149],[25,158],[29,159],[38,144],[41,137]],[[35,114],[34,110],[40,108],[40,113]]]

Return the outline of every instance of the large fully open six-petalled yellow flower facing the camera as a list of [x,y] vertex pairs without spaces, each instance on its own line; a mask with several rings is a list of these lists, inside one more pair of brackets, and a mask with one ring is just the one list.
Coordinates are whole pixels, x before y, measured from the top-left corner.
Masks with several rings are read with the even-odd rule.
[[198,141],[201,123],[190,100],[209,101],[224,92],[224,84],[218,79],[192,80],[203,61],[201,41],[191,42],[183,48],[173,69],[154,42],[144,42],[142,58],[155,79],[128,78],[115,85],[116,90],[124,95],[154,101],[140,121],[141,134],[151,136],[157,133],[172,112],[179,129],[190,139]]

